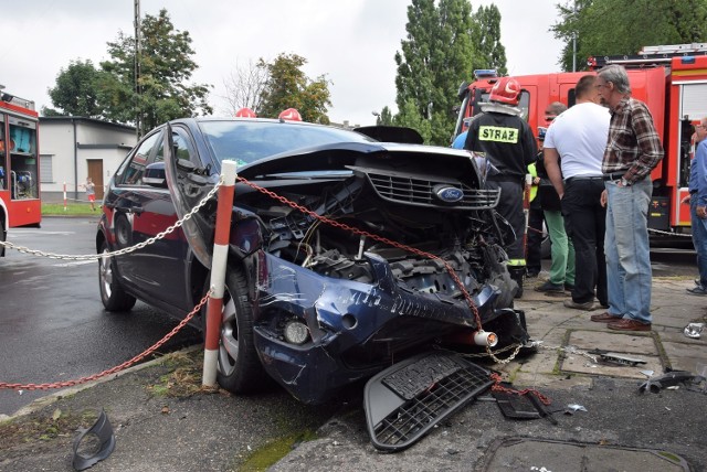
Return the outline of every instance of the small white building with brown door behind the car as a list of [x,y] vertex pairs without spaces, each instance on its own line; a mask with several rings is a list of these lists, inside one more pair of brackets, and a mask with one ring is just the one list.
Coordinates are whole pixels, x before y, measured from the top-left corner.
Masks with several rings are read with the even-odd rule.
[[135,127],[83,117],[40,117],[40,185],[45,202],[84,200],[80,187],[89,176],[96,200],[137,142]]

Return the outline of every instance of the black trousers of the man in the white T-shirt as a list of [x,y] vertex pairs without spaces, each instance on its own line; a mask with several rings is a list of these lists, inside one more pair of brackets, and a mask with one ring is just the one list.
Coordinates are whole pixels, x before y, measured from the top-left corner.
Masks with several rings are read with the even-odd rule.
[[[568,179],[562,197],[564,229],[574,245],[576,270],[572,300],[584,303],[594,300],[609,305],[604,233],[606,208],[601,206],[604,182],[600,179]],[[595,292],[594,292],[595,290]]]

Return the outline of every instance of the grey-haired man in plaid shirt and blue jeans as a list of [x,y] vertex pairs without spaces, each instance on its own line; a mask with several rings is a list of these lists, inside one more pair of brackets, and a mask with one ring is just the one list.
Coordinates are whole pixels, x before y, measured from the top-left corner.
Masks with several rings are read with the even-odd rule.
[[611,112],[602,162],[609,310],[591,318],[608,322],[611,330],[651,331],[647,214],[653,192],[651,171],[663,159],[663,148],[648,107],[631,97],[625,68],[603,67],[594,86]]

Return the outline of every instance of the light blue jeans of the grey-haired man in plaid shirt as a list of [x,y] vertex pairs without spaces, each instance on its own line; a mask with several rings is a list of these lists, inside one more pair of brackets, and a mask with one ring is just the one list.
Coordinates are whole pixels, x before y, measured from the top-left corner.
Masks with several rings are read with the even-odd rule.
[[606,182],[606,283],[609,313],[651,323],[648,204],[653,183],[646,178],[622,187]]

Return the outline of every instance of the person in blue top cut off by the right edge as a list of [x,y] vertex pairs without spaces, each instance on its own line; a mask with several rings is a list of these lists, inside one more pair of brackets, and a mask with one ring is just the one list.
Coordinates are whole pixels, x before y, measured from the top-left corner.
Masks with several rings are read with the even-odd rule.
[[[693,245],[697,251],[699,280],[688,292],[707,296],[707,117],[695,127],[695,158],[689,171],[689,195],[683,203],[689,203],[693,226]],[[699,282],[699,283],[698,283]]]

